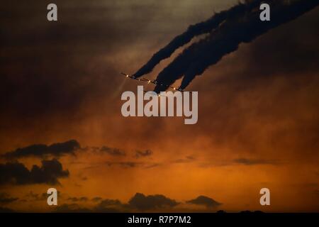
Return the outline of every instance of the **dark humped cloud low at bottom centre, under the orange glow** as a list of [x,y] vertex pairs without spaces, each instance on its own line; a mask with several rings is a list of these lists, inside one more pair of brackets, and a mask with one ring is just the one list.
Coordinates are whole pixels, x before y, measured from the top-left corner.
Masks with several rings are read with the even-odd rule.
[[136,193],[135,196],[128,201],[128,204],[135,209],[145,211],[167,207],[172,208],[177,206],[179,203],[174,199],[169,199],[166,196],[163,196],[162,194],[145,196],[144,194]]

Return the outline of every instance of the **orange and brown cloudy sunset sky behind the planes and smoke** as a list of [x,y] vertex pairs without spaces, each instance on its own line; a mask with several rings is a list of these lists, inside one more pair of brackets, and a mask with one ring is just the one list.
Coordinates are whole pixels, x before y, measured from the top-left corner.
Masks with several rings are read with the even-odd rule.
[[318,7],[194,79],[185,125],[123,117],[121,94],[145,84],[120,72],[237,0],[54,2],[56,22],[51,1],[0,5],[0,210],[319,211]]

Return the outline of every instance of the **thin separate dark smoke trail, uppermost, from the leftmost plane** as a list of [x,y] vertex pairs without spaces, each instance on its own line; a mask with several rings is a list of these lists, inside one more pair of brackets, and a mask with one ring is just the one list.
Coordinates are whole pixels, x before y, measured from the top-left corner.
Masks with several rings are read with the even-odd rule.
[[152,72],[154,67],[161,61],[167,57],[170,57],[172,53],[180,48],[181,46],[189,43],[192,38],[197,35],[202,35],[205,33],[211,32],[213,29],[217,28],[220,23],[225,21],[225,19],[233,18],[234,16],[240,15],[245,11],[249,11],[250,9],[259,6],[262,0],[250,0],[245,1],[245,4],[237,4],[227,11],[221,11],[220,13],[216,13],[207,21],[203,21],[201,23],[196,23],[195,25],[189,26],[186,32],[182,33],[175,37],[168,45],[164,48],[156,52],[152,58],[143,65],[138,72],[133,74],[135,77],[141,77],[143,74],[147,74]]

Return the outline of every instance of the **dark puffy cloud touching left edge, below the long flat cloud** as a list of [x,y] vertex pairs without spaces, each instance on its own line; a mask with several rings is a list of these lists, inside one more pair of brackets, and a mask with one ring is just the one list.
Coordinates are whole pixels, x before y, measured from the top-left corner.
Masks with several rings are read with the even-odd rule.
[[57,159],[43,160],[42,166],[33,165],[28,170],[20,162],[0,164],[1,184],[60,184],[58,178],[68,177],[69,171],[62,169]]

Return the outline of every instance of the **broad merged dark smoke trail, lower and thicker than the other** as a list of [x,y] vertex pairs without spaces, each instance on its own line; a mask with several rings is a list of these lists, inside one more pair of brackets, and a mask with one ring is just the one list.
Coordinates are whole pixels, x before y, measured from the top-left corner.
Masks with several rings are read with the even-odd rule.
[[[259,7],[224,21],[207,38],[186,48],[164,68],[157,76],[159,84],[170,85],[184,76],[181,82],[181,89],[184,89],[196,75],[237,50],[240,43],[249,43],[270,29],[303,15],[318,6],[319,0],[272,0],[267,3],[271,7],[271,21],[260,21]],[[159,84],[155,92],[167,89]]]

